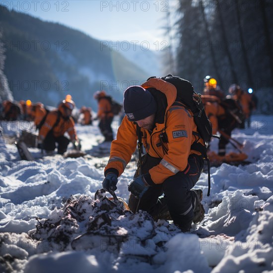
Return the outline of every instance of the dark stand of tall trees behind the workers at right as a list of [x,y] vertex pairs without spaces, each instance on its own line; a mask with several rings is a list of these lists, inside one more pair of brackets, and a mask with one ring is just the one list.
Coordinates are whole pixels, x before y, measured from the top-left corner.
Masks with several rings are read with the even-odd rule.
[[210,75],[226,94],[237,83],[271,96],[273,1],[181,0],[178,7],[179,75],[197,90]]

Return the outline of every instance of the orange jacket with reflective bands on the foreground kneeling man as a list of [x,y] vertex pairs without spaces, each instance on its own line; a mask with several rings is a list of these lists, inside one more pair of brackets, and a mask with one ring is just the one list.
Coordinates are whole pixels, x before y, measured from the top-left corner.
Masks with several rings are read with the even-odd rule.
[[[192,153],[201,154],[199,151],[191,150],[191,145],[195,141],[201,142],[203,145],[204,142],[202,138],[193,135],[193,132],[197,132],[197,126],[192,112],[183,105],[172,105],[177,94],[173,84],[158,78],[151,78],[143,83],[142,87],[156,88],[157,92],[162,92],[167,98],[164,122],[156,123],[152,133],[141,128],[142,142],[146,152],[152,157],[162,158],[157,166],[149,170],[152,181],[155,184],[160,184],[177,172],[184,171],[186,173],[189,168],[189,155]],[[167,143],[160,140],[159,135],[163,132],[167,135]],[[130,122],[125,116],[119,127],[117,139],[112,141],[110,159],[105,171],[114,168],[118,170],[120,176],[131,160],[136,149],[136,142],[136,124]],[[164,152],[162,145],[166,152]]]

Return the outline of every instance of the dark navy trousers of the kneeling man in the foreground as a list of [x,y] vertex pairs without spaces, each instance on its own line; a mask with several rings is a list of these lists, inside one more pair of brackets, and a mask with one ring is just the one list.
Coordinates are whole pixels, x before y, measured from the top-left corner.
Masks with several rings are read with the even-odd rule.
[[[160,162],[160,158],[146,156],[142,164],[142,174]],[[188,231],[191,228],[194,218],[194,199],[195,193],[191,189],[195,186],[203,171],[204,160],[202,156],[191,154],[188,159],[190,169],[184,172],[168,177],[162,184],[158,184],[146,191],[140,199],[132,194],[129,197],[129,207],[133,212],[136,209],[147,211],[154,219],[158,215],[166,215],[169,211],[174,224],[182,231]],[[159,198],[162,194],[163,197]]]

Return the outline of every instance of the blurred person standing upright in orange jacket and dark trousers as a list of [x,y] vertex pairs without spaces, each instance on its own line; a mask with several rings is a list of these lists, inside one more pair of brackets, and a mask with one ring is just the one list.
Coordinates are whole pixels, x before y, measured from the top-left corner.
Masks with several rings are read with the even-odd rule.
[[94,94],[94,99],[98,101],[97,119],[99,120],[99,129],[104,136],[104,141],[112,141],[113,130],[111,127],[114,114],[111,111],[111,103],[107,98],[105,91],[97,91]]

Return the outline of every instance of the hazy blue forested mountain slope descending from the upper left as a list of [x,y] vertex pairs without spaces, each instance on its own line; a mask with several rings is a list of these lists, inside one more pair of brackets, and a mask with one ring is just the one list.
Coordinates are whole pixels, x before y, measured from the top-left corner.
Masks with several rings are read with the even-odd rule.
[[131,82],[150,74],[117,51],[102,48],[84,33],[24,13],[1,10],[4,73],[15,100],[31,99],[56,105],[71,94],[76,105],[91,106],[96,90],[122,101]]

